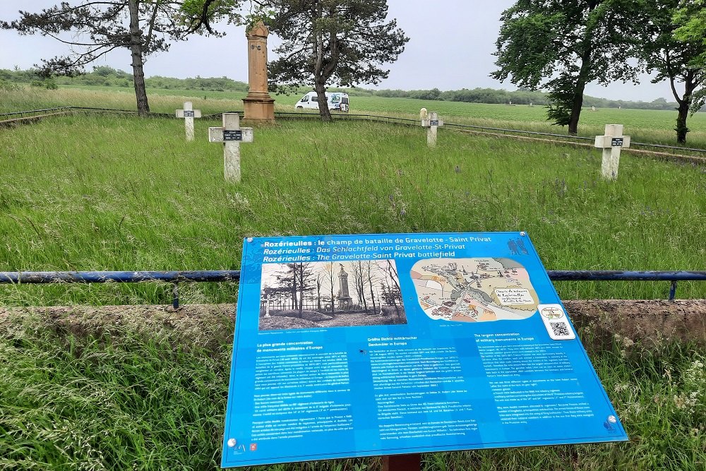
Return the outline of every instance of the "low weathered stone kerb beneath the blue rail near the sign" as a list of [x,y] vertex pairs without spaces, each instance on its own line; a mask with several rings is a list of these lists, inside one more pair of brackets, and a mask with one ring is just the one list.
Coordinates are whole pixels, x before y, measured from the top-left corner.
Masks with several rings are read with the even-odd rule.
[[[597,299],[564,302],[587,345],[611,345],[615,335],[653,344],[664,340],[693,340],[706,345],[706,299],[633,301]],[[172,306],[54,306],[0,307],[0,330],[17,323],[77,335],[112,330],[167,333],[203,345],[230,341],[234,304]]]

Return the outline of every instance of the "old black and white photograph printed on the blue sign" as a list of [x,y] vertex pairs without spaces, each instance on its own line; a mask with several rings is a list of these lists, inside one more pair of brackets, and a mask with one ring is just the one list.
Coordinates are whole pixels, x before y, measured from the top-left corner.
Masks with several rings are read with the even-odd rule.
[[260,330],[406,323],[394,260],[263,263]]

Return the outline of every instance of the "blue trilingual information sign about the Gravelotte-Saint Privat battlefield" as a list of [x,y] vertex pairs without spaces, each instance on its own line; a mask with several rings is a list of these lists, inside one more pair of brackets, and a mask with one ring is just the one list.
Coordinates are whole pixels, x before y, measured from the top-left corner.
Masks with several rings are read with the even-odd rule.
[[223,467],[625,440],[524,232],[244,243]]

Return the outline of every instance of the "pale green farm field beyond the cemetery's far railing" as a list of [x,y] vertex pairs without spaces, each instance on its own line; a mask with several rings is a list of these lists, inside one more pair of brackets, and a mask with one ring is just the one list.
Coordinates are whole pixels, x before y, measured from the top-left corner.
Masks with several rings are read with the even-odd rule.
[[[203,90],[149,90],[153,112],[172,113],[184,100],[193,101],[204,114],[243,109],[245,93]],[[299,95],[275,95],[276,111],[294,111]],[[0,90],[0,112],[13,112],[54,106],[116,107],[135,109],[131,88],[69,86],[59,90],[28,88],[23,93]],[[481,103],[413,100],[411,98],[351,97],[351,113],[373,113],[384,116],[417,119],[419,109],[426,107],[439,113],[441,119],[456,124],[523,129],[549,133],[566,133],[566,128],[551,126],[546,121],[545,107],[527,105],[485,105]],[[624,124],[625,132],[636,142],[676,144],[676,111],[645,109],[584,109],[579,124],[580,136],[599,136],[606,124]],[[706,113],[697,113],[688,120],[692,130],[688,146],[706,148]]]

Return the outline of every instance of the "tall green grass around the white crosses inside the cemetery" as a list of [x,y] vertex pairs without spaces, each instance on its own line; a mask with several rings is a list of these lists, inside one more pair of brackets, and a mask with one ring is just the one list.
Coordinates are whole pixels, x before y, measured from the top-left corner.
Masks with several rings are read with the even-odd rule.
[[[0,130],[0,270],[238,269],[258,235],[527,230],[548,269],[706,266],[703,167],[364,122],[282,121],[241,147],[243,183],[197,120],[62,117]],[[232,302],[236,287],[184,287]],[[667,283],[567,282],[574,298],[664,298]],[[704,297],[680,283],[680,297]],[[0,287],[2,304],[169,302],[170,287]]]

